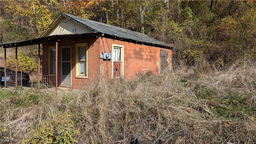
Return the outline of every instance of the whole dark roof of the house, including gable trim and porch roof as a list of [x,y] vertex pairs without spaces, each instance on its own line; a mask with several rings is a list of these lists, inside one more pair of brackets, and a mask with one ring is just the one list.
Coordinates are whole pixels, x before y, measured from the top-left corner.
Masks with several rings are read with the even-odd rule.
[[[47,36],[48,32],[56,26],[56,24],[62,19],[62,17],[66,17],[70,20],[74,20],[78,24],[85,26],[94,32],[88,32],[84,34],[63,34],[63,35],[54,35],[54,36]],[[146,34],[141,34],[139,32],[134,32],[132,30],[127,30],[124,28],[119,28],[116,26],[111,26],[109,24],[104,24],[102,22],[96,22],[93,20],[87,20],[84,18],[80,18],[77,16],[73,16],[70,14],[60,13],[60,15],[52,22],[52,24],[47,28],[47,30],[41,35],[40,38],[35,38],[31,40],[24,40],[20,42],[10,42],[6,44],[0,44],[0,47],[4,48],[12,48],[18,46],[29,46],[33,44],[44,44],[48,42],[55,42],[55,41],[62,41],[68,38],[71,39],[81,39],[85,37],[92,37],[92,36],[103,36],[106,34],[108,36],[115,36],[117,38],[122,38],[124,41],[133,41],[133,42],[140,42],[143,44],[154,45],[158,47],[165,47],[172,49],[172,46],[165,44],[164,42],[160,42]]]

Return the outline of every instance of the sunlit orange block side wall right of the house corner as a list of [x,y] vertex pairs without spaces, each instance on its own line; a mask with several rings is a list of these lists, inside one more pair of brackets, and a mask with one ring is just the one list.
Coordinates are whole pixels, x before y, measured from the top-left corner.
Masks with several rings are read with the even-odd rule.
[[[120,40],[113,40],[109,38],[103,38],[105,45],[105,51],[112,51],[112,44],[119,44],[124,46],[124,79],[130,80],[136,78],[136,75],[140,72],[154,72],[154,74],[160,74],[160,50],[168,50],[168,67],[171,68],[172,50],[159,48],[155,46],[146,46],[143,44],[134,44],[132,42],[124,42]],[[104,52],[104,45],[102,39],[100,39],[100,54]],[[106,44],[108,42],[108,44]],[[108,48],[109,46],[109,48]],[[112,65],[111,61],[100,61],[101,74],[111,77]]]

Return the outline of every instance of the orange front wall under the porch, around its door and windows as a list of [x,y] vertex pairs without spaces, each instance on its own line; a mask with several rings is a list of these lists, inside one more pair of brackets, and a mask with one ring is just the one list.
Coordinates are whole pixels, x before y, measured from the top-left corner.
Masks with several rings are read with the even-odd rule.
[[[88,44],[88,77],[97,78],[99,75],[99,42],[97,38],[87,38],[85,40],[76,40],[58,42],[58,86],[61,85],[61,46],[71,45],[71,85],[74,88],[80,88],[86,84],[88,79],[85,78],[76,78],[76,44],[78,43],[87,43]],[[44,44],[43,45],[43,58],[42,58],[42,71],[43,74],[49,74],[49,46],[55,46],[54,43]]]

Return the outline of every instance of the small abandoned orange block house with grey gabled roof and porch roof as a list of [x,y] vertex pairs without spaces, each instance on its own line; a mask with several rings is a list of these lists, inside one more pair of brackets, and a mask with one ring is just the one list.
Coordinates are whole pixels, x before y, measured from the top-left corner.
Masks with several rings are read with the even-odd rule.
[[55,86],[82,88],[88,79],[130,80],[141,72],[163,74],[171,68],[170,45],[146,34],[66,13],[58,15],[40,38],[1,46],[32,44],[38,44],[38,51],[42,44],[42,76]]

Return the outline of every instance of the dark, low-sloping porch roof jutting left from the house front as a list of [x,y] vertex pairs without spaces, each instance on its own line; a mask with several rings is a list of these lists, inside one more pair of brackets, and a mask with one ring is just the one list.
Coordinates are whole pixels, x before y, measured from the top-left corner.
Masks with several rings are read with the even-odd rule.
[[30,46],[34,44],[45,44],[49,42],[60,42],[60,41],[68,41],[68,40],[78,40],[82,38],[90,38],[90,37],[98,36],[98,32],[89,32],[84,34],[64,34],[64,35],[54,35],[54,36],[45,36],[41,38],[34,38],[30,40],[24,40],[20,42],[10,42],[5,44],[0,44],[0,47],[3,48],[13,48],[20,46]]

